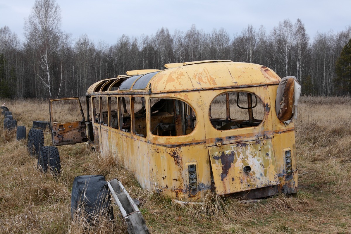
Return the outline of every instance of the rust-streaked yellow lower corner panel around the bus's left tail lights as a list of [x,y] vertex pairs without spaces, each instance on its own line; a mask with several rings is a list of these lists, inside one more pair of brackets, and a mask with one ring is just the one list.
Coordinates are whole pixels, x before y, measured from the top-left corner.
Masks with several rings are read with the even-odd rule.
[[[210,164],[205,143],[166,148],[150,145],[150,183],[159,192],[179,200],[200,198],[201,191],[211,189]],[[190,189],[190,165],[196,166],[196,187]],[[190,199],[188,199],[190,198]]]

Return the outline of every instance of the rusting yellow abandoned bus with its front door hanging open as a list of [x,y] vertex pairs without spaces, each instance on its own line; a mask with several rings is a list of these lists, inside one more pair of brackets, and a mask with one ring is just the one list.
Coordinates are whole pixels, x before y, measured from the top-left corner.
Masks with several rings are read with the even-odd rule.
[[[294,124],[276,114],[275,72],[229,60],[165,67],[94,83],[87,118],[78,98],[50,100],[53,144],[89,142],[118,157],[141,187],[182,201],[206,191],[247,199],[297,192]],[[77,104],[76,120],[53,114],[67,102]]]

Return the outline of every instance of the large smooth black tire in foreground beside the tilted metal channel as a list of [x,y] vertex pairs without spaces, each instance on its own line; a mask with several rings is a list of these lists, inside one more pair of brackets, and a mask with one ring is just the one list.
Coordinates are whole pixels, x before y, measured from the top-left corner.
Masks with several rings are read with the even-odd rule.
[[88,223],[93,224],[94,217],[102,214],[113,220],[110,204],[110,190],[102,175],[82,175],[74,178],[71,198],[71,218],[85,215]]

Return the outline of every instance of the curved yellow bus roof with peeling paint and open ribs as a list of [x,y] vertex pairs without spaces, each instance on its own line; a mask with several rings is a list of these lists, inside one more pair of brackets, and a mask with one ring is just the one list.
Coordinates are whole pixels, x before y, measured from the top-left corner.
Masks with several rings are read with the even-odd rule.
[[[270,68],[254,63],[230,60],[206,60],[168,63],[162,71],[138,70],[101,80],[87,90],[87,95],[110,93],[168,93],[201,89],[220,89],[279,84],[280,77]],[[142,74],[143,72],[148,72]]]

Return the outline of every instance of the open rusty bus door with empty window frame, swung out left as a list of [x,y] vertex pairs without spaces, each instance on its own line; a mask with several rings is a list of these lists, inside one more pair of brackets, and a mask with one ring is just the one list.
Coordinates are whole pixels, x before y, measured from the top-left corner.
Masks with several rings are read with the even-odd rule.
[[86,121],[79,98],[49,101],[52,143],[54,146],[86,142]]

